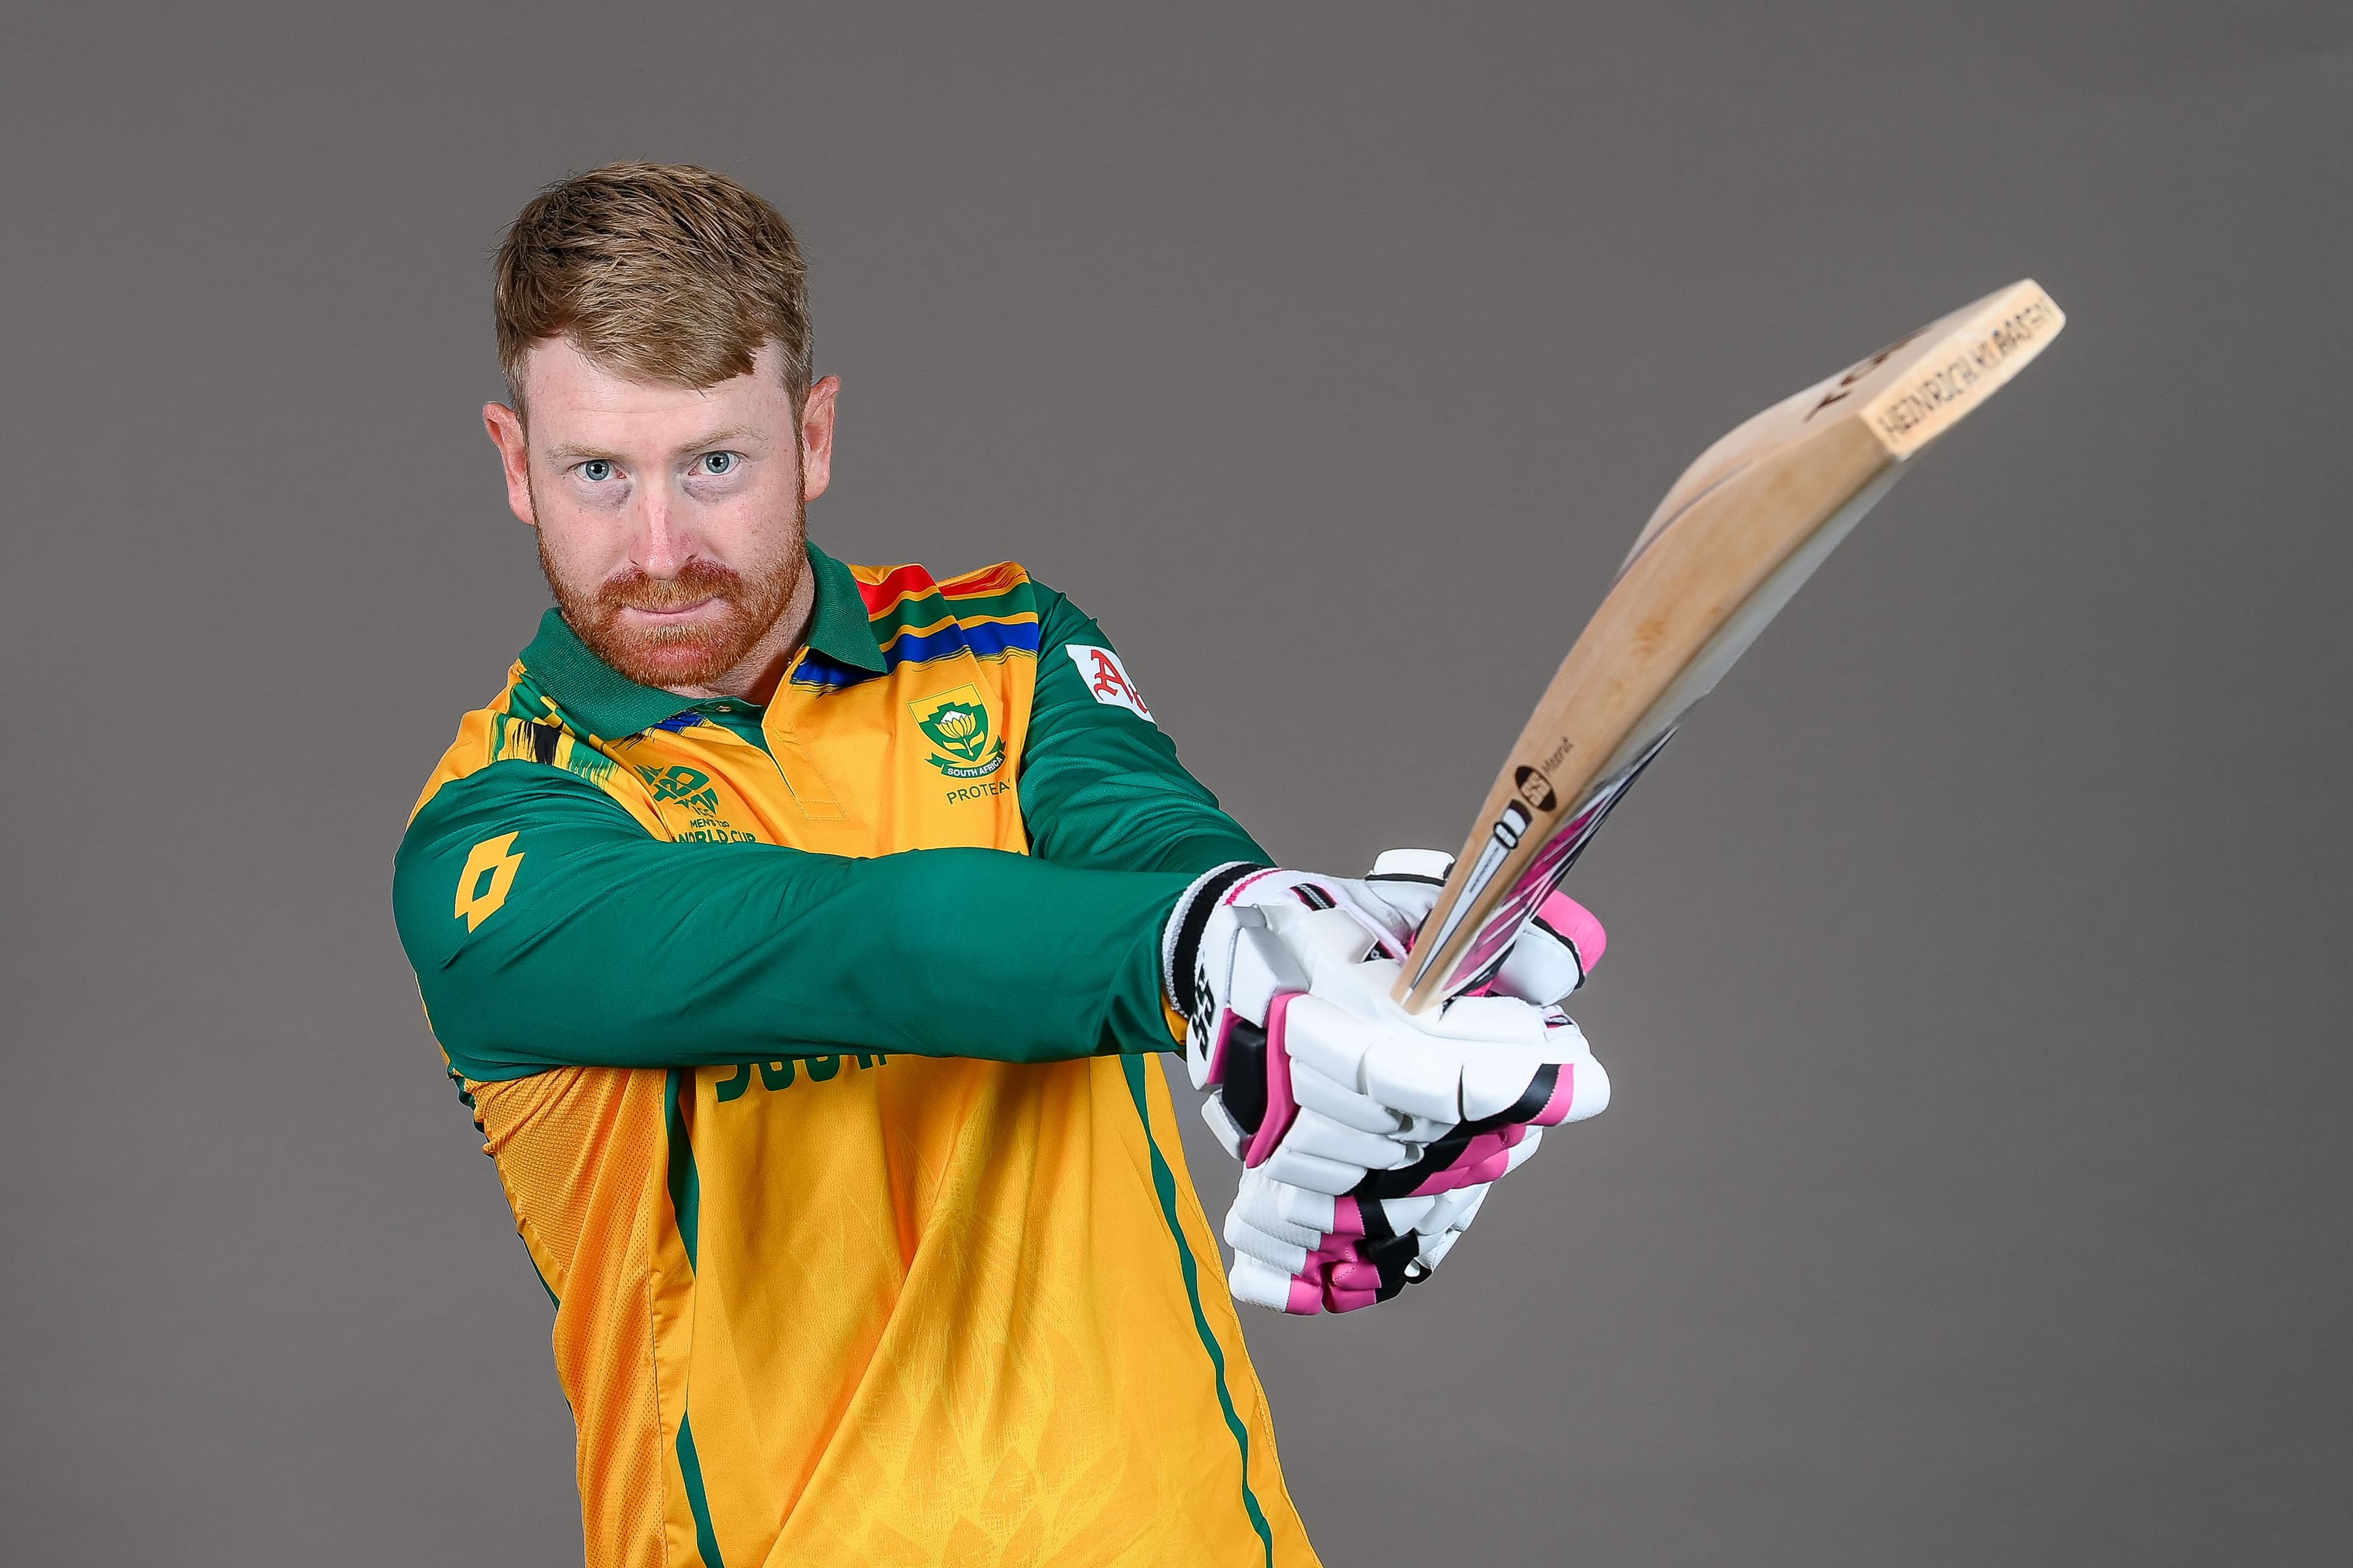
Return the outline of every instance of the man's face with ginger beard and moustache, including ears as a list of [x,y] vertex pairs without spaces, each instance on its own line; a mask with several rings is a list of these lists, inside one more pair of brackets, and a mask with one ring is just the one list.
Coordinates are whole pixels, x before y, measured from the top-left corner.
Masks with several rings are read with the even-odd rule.
[[831,477],[840,383],[812,386],[795,416],[774,343],[753,374],[687,388],[628,381],[548,339],[520,390],[527,430],[504,404],[482,421],[579,639],[642,686],[758,682],[807,614],[802,508]]

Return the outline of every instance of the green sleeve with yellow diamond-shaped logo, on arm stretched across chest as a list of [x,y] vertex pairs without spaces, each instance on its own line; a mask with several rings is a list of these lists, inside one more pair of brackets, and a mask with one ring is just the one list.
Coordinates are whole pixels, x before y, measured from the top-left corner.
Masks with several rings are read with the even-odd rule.
[[416,813],[393,914],[471,1079],[835,1051],[1038,1063],[1172,1048],[1160,929],[1188,882],[995,849],[668,844],[515,759]]

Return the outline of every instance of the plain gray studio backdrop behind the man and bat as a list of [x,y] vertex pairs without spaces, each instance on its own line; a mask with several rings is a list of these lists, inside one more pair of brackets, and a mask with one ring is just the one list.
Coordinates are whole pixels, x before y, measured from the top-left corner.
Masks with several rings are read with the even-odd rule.
[[346,9],[9,21],[9,1559],[579,1559],[386,882],[544,604],[487,254],[680,158],[807,237],[819,538],[1033,562],[1318,867],[1720,430],[2049,287],[1579,870],[1609,1114],[1252,1345],[1334,1563],[2346,1561],[2344,5]]

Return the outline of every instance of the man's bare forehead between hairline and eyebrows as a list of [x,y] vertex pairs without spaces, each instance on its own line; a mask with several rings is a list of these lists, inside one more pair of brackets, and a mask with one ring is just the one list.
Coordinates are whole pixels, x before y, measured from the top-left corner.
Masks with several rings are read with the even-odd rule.
[[793,400],[784,390],[776,346],[760,348],[748,376],[715,386],[633,381],[579,350],[572,339],[541,339],[522,360],[534,442],[551,444],[692,444],[704,430],[791,433]]

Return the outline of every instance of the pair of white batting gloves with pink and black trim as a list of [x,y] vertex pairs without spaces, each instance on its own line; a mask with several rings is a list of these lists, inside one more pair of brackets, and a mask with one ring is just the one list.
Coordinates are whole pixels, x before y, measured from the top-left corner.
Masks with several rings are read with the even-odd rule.
[[1529,1006],[1581,985],[1605,947],[1600,922],[1558,893],[1489,980],[1508,994],[1433,1020],[1391,1004],[1447,870],[1435,851],[1391,851],[1365,882],[1224,867],[1169,922],[1172,978],[1174,954],[1195,954],[1179,999],[1193,1081],[1212,1091],[1202,1114],[1247,1166],[1226,1220],[1240,1300],[1388,1300],[1428,1276],[1541,1126],[1607,1105],[1577,1025]]

